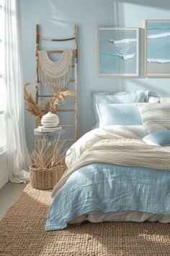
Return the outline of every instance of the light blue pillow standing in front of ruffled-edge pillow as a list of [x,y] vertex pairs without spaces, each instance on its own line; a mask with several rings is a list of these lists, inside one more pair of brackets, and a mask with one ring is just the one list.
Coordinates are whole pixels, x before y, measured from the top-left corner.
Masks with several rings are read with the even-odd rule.
[[137,125],[142,124],[137,103],[130,104],[104,104],[97,103],[99,114],[99,127],[112,124]]

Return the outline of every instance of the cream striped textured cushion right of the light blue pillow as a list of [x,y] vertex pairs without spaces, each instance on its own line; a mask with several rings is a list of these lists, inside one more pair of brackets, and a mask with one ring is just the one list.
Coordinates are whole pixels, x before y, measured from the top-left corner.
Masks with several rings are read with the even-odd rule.
[[138,103],[143,124],[160,124],[170,127],[170,103]]

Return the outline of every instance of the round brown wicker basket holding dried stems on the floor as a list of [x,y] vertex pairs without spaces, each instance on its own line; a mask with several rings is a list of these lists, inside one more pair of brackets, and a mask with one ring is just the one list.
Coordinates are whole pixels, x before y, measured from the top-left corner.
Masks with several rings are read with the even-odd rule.
[[35,168],[30,166],[31,185],[35,189],[53,189],[66,171],[66,163],[61,161],[58,166],[48,169]]

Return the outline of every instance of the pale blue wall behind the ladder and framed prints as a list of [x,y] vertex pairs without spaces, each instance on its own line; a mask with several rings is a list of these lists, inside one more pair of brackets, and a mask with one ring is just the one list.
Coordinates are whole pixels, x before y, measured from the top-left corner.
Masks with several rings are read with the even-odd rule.
[[[41,34],[59,38],[72,35],[79,25],[79,136],[94,125],[92,90],[152,90],[170,95],[169,79],[143,77],[143,27],[146,19],[169,19],[169,0],[20,0],[22,17],[24,82],[35,81],[35,25]],[[140,78],[97,77],[96,33],[99,25],[140,27]],[[26,114],[26,136],[32,145],[34,118]]]

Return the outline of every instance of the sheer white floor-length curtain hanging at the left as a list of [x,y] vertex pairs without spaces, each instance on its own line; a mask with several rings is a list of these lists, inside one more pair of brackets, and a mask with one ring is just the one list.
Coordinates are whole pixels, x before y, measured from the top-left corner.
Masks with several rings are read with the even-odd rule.
[[[1,0],[4,17],[4,85],[6,87],[6,154],[9,180],[30,179],[30,156],[24,135],[22,48],[17,0]],[[1,17],[1,19],[3,19]]]

